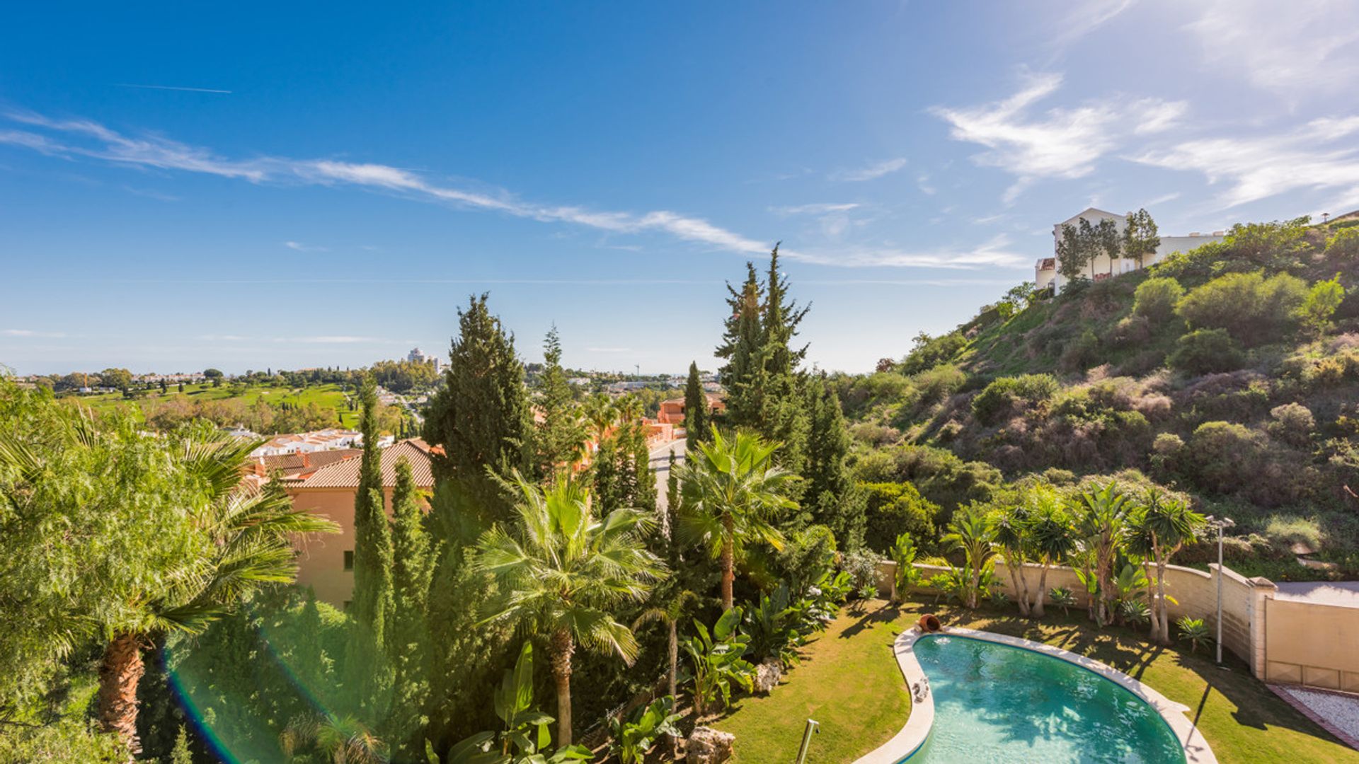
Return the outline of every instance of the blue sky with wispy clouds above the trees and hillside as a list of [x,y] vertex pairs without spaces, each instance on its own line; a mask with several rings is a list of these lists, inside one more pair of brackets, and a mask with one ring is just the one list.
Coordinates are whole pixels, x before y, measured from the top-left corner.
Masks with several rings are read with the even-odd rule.
[[1051,226],[1359,207],[1359,4],[26,4],[0,364],[363,366],[489,291],[527,359],[715,367],[784,242],[822,368],[1033,277]]

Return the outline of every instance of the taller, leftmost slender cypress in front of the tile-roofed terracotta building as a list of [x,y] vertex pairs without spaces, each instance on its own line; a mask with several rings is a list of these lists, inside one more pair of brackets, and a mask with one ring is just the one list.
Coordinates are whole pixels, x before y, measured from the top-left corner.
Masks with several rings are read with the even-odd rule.
[[391,529],[382,487],[382,449],[378,439],[378,386],[364,377],[359,386],[359,431],[363,455],[353,502],[353,604],[351,613],[363,632],[359,639],[376,650],[386,643],[391,616]]

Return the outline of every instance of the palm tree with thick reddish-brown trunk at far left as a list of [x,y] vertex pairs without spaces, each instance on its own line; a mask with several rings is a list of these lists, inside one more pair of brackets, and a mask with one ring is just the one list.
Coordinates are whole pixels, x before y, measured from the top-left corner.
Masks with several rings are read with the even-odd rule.
[[[24,476],[33,491],[52,496],[87,484],[105,493],[88,496],[101,513],[120,518],[137,538],[118,541],[87,575],[121,575],[99,589],[109,601],[87,621],[106,639],[99,666],[99,725],[117,734],[132,754],[137,740],[137,684],[145,673],[141,651],[170,632],[201,633],[249,594],[296,578],[292,538],[336,533],[330,521],[295,510],[275,485],[241,484],[250,451],[260,442],[219,440],[216,432],[152,438],[129,423],[101,430],[87,412],[50,432],[54,449],[34,449],[16,432],[0,435],[0,462]],[[65,472],[84,465],[79,474]],[[99,474],[95,474],[98,472]],[[98,483],[106,474],[111,483]],[[64,485],[64,487],[63,487]],[[48,495],[48,493],[45,493]],[[160,548],[162,538],[174,540]],[[107,542],[107,540],[106,540]],[[129,548],[135,546],[135,548]]]

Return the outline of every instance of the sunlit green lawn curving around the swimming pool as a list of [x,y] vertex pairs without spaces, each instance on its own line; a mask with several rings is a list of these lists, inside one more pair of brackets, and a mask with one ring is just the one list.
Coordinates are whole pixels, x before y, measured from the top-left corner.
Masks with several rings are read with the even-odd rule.
[[1056,644],[1102,661],[1190,708],[1218,761],[1355,763],[1347,748],[1294,711],[1229,655],[1227,667],[1208,654],[1148,644],[1124,628],[1095,629],[1082,613],[1049,612],[1042,623],[1008,610],[969,612],[947,605],[875,601],[864,613],[840,617],[805,650],[800,666],[765,697],[746,697],[711,726],[737,735],[737,760],[786,763],[796,757],[802,726],[821,722],[807,761],[853,761],[894,735],[909,708],[890,644],[921,612],[959,625]]

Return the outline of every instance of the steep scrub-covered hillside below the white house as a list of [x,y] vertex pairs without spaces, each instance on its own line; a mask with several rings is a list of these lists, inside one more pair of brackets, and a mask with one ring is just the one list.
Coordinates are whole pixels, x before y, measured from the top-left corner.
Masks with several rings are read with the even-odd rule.
[[1349,215],[1237,226],[1057,296],[1012,291],[839,381],[859,476],[911,480],[947,514],[1006,481],[1118,474],[1234,518],[1238,568],[1356,575],[1356,285]]

